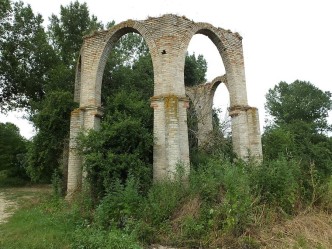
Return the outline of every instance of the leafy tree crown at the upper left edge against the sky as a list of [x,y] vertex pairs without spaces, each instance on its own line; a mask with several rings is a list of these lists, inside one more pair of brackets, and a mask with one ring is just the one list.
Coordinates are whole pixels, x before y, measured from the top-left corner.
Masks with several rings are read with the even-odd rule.
[[[57,59],[42,26],[43,18],[30,5],[5,1],[0,33],[1,111],[40,101],[45,95],[50,68]],[[2,6],[3,7],[3,6]],[[12,10],[12,11],[10,11]]]

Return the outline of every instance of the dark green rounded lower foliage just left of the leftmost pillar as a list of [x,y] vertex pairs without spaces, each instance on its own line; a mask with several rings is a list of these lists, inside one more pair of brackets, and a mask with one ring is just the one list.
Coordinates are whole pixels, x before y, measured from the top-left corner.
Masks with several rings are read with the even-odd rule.
[[40,105],[41,109],[32,117],[38,133],[29,146],[27,172],[33,181],[49,182],[61,162],[75,103],[72,94],[54,91]]

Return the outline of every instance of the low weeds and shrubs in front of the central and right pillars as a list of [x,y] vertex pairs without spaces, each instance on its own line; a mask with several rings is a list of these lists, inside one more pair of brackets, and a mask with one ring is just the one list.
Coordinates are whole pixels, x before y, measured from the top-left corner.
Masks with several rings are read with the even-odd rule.
[[[116,182],[97,207],[94,222],[150,243],[158,240],[151,233],[185,241],[199,241],[217,231],[239,235],[250,224],[253,210],[250,166],[214,159],[193,172],[187,184],[175,177],[154,184],[147,195],[132,178],[126,184]],[[198,198],[197,205],[187,213],[184,208],[191,198]],[[181,227],[179,234],[170,228],[174,222]]]

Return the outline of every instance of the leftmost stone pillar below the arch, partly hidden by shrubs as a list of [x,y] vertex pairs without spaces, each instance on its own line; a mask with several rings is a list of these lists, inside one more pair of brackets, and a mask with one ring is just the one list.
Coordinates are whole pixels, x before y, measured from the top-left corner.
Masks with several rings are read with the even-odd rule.
[[71,113],[67,198],[71,198],[76,191],[82,188],[85,178],[82,159],[77,151],[77,136],[83,130],[99,129],[101,116],[101,108],[97,106],[80,107]]

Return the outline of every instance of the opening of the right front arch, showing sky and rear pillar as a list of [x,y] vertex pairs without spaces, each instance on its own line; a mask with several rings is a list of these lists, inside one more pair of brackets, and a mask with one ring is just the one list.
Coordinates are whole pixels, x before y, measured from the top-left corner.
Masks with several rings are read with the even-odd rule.
[[[223,136],[220,131],[223,130],[224,125],[224,103],[220,100],[224,100],[224,94],[219,90],[216,92],[219,82],[213,82],[217,76],[225,74],[225,67],[215,45],[215,42],[211,40],[212,35],[207,35],[204,32],[198,32],[194,35],[188,46],[189,56],[196,56],[198,58],[202,56],[206,61],[206,71],[204,81],[199,84],[191,84],[188,87],[188,82],[185,82],[186,92],[191,100],[191,105],[188,109],[188,120],[194,120],[194,123],[188,123],[188,130],[190,132],[189,139],[196,139],[197,141],[189,141],[190,154],[195,162],[195,155],[198,150],[211,152],[213,147],[219,141],[219,136]],[[186,69],[186,68],[185,68]],[[200,68],[198,68],[199,70]],[[186,73],[186,70],[185,70]],[[185,75],[185,80],[186,80]],[[196,83],[196,82],[195,82]],[[227,107],[226,107],[227,108]],[[222,110],[222,112],[220,112]],[[194,117],[191,117],[195,115]],[[192,125],[195,126],[192,126]],[[194,136],[196,135],[196,137]],[[195,147],[196,146],[196,147]]]

